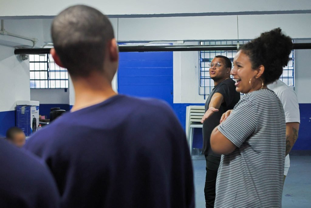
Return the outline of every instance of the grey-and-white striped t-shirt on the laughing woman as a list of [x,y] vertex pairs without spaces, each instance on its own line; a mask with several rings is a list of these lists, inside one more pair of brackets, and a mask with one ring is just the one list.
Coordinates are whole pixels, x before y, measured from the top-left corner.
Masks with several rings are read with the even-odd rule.
[[215,207],[281,207],[285,115],[269,89],[245,94],[218,130],[237,148],[222,155]]

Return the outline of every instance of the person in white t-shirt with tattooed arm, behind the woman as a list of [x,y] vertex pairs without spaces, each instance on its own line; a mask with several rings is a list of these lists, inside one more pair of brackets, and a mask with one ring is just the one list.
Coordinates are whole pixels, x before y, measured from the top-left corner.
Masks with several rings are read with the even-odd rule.
[[284,180],[290,168],[289,152],[293,148],[297,138],[300,124],[299,104],[295,91],[281,80],[277,80],[267,86],[279,97],[283,104],[286,122],[286,157],[284,166]]

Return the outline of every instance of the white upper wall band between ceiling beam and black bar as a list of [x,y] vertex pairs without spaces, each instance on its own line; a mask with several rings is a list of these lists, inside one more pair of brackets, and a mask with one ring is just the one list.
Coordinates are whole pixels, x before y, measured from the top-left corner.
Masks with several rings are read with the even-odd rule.
[[[311,1],[310,1],[311,2]],[[238,21],[237,21],[238,17]],[[311,14],[227,15],[202,17],[145,17],[110,18],[118,41],[175,41],[253,39],[261,32],[275,27],[292,38],[311,38]],[[52,19],[5,20],[5,29],[11,33],[37,38],[36,46],[52,42]],[[217,28],[217,31],[210,31]],[[28,44],[15,37],[0,35],[1,40]],[[25,43],[26,42],[26,43]]]

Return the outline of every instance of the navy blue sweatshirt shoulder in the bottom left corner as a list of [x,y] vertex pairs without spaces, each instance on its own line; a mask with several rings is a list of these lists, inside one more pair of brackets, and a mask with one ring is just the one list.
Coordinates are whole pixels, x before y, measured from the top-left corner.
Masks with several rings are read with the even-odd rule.
[[48,167],[0,139],[0,207],[57,208],[59,200]]

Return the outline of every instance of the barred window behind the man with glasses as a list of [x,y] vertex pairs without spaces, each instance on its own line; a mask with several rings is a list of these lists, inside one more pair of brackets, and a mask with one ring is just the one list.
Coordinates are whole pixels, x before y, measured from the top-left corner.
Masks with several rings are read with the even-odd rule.
[[[239,41],[240,44],[245,44],[248,41]],[[231,45],[237,44],[238,41],[202,41],[200,45]],[[209,95],[211,90],[214,88],[214,81],[211,79],[209,74],[209,63],[215,56],[222,55],[227,56],[231,62],[237,51],[199,51],[199,62],[200,62],[200,79],[199,79],[199,94]],[[288,65],[284,67],[283,74],[280,77],[280,80],[283,81],[286,85],[294,87],[295,85],[295,73],[294,73],[294,50],[290,53]],[[233,65],[233,64],[232,64]]]

